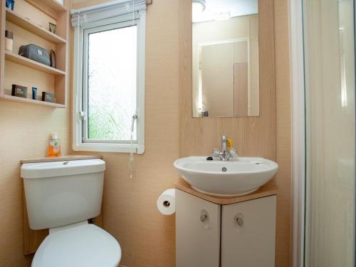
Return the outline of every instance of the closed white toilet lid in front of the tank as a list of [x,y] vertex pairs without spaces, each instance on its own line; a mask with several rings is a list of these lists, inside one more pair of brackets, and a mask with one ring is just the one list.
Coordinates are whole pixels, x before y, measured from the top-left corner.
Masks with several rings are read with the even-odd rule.
[[32,267],[117,267],[119,243],[108,232],[86,224],[50,234],[33,257]]

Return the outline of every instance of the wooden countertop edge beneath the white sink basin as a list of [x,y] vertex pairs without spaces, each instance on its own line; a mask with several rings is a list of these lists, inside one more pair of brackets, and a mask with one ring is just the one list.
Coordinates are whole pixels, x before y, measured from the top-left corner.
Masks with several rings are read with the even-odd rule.
[[220,205],[234,204],[237,202],[247,201],[251,199],[259,199],[261,197],[268,197],[277,194],[277,186],[273,180],[265,184],[256,192],[253,192],[251,194],[246,194],[244,196],[239,196],[239,197],[216,197],[216,196],[211,196],[209,194],[203,194],[193,189],[190,186],[190,184],[185,182],[184,179],[182,178],[179,178],[177,180],[177,182],[175,183],[175,187],[189,194],[193,194],[196,197],[200,197],[201,199],[205,199],[207,201]]

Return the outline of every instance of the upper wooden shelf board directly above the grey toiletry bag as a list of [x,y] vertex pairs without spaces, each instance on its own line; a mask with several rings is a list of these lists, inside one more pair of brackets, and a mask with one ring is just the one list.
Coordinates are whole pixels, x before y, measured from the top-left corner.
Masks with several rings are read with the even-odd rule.
[[36,34],[36,36],[46,39],[52,43],[67,43],[67,41],[60,36],[51,33],[51,31],[48,31],[46,28],[36,25],[26,17],[21,16],[10,9],[6,9],[6,21],[10,21],[33,34]]

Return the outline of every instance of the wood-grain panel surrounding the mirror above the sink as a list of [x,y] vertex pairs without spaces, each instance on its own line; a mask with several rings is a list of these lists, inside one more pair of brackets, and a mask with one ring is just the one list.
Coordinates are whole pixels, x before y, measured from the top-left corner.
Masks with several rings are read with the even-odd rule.
[[[221,137],[234,140],[240,156],[276,159],[276,90],[273,0],[259,4],[259,117],[192,117],[192,1],[179,1],[179,136],[180,155],[209,155]],[[227,99],[226,99],[227,101]]]

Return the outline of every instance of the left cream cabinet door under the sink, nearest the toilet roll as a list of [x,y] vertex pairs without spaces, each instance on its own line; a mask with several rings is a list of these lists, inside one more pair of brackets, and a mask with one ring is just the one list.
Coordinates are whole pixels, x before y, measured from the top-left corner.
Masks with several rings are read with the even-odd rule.
[[221,206],[176,189],[176,267],[219,267]]

